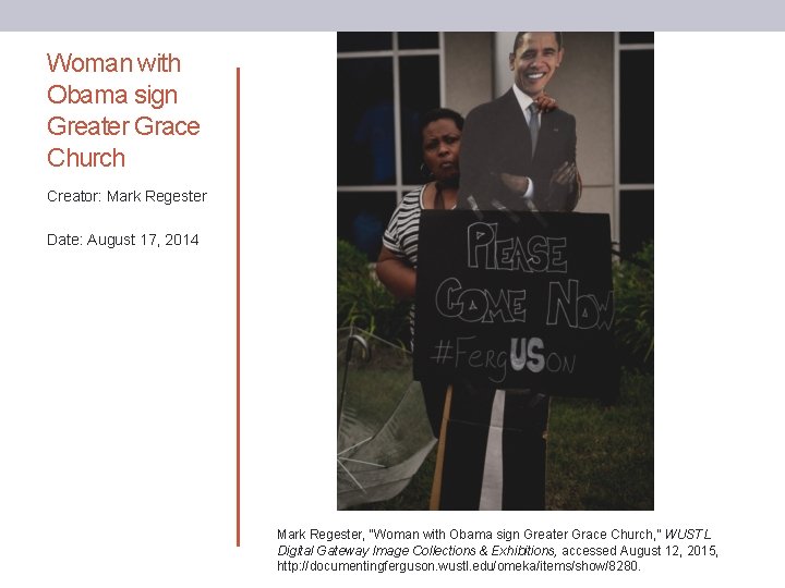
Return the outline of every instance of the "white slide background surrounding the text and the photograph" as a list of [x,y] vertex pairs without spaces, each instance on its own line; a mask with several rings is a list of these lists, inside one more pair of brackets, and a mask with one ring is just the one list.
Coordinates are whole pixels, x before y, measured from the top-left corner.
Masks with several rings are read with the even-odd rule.
[[[279,528],[709,527],[722,558],[553,586],[771,585],[783,494],[785,36],[655,39],[656,495],[643,513],[338,513],[333,34],[2,34],[0,585],[311,586]],[[46,52],[176,53],[182,73],[51,74]],[[234,547],[234,68],[242,69],[242,547]],[[180,103],[51,105],[52,83]],[[53,169],[46,121],[198,119]],[[84,114],[81,114],[84,113]],[[111,145],[112,139],[106,139]],[[207,191],[203,206],[56,205],[56,189]],[[198,231],[197,248],[48,247],[49,232]],[[519,585],[528,576],[454,576]],[[347,575],[350,586],[433,576]]]

